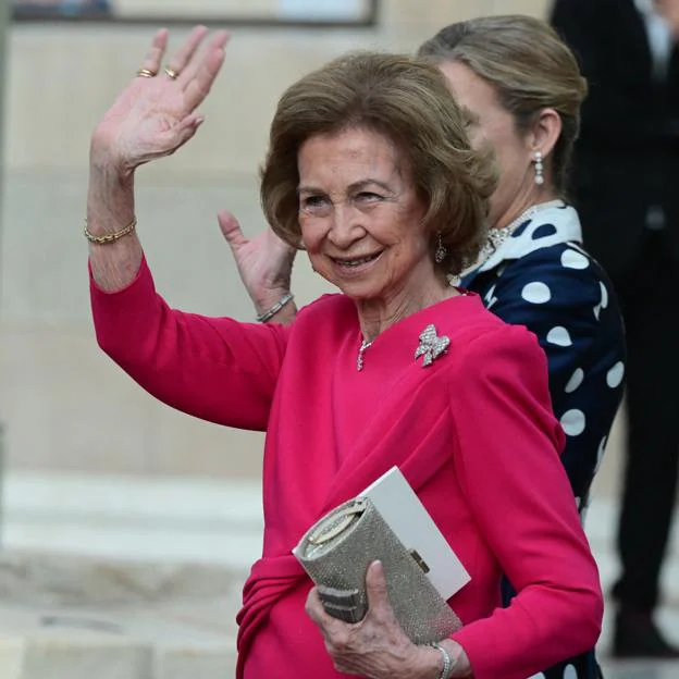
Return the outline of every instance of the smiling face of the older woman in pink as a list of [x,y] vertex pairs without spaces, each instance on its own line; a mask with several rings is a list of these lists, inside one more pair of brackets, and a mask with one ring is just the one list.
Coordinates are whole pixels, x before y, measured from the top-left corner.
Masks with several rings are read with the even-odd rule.
[[354,299],[386,300],[434,275],[425,206],[388,138],[361,127],[316,135],[298,171],[301,237],[325,280]]

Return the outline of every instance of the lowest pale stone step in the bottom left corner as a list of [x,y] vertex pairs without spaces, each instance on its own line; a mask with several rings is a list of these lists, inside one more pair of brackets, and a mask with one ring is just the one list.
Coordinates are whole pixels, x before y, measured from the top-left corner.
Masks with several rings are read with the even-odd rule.
[[0,608],[2,679],[224,679],[233,637],[170,613]]

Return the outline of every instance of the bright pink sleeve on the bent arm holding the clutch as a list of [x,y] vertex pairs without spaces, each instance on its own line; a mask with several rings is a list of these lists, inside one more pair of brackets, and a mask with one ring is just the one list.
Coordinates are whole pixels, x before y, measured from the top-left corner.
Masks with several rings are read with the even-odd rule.
[[454,634],[474,679],[526,679],[596,643],[603,598],[596,564],[559,459],[547,366],[523,328],[469,346],[450,385],[456,470],[479,526],[518,592]]

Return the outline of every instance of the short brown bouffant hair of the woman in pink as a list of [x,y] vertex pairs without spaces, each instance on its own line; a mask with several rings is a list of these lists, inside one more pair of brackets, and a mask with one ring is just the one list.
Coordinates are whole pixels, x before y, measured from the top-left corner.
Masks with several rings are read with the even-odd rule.
[[271,124],[261,202],[275,233],[300,245],[297,156],[305,140],[347,128],[371,129],[409,162],[432,254],[441,233],[441,268],[458,273],[484,240],[494,165],[474,152],[462,113],[439,69],[416,57],[350,53],[303,77],[282,96]]

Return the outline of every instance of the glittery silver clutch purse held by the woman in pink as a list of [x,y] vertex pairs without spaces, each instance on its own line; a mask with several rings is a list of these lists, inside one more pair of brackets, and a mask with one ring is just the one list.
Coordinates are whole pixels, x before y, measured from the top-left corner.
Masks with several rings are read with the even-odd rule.
[[366,571],[380,559],[396,619],[413,643],[441,641],[461,627],[427,578],[427,564],[396,538],[368,497],[350,499],[314,523],[295,556],[325,610],[345,622],[366,615]]

